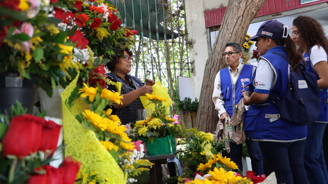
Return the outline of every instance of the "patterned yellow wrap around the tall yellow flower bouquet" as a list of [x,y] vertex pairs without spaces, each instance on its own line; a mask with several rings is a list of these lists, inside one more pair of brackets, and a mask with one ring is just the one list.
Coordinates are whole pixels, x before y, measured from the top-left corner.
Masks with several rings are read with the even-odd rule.
[[72,156],[81,162],[82,168],[100,172],[102,179],[109,179],[108,183],[126,183],[127,173],[123,173],[113,157],[104,149],[95,132],[84,128],[75,119],[78,113],[90,109],[90,106],[81,98],[74,101],[71,111],[66,106],[65,102],[76,87],[77,78],[62,93],[65,157]]

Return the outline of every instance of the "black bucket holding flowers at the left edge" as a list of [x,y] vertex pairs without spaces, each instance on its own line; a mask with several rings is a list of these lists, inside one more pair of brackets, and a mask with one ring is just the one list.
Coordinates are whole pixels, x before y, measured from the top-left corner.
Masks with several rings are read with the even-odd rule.
[[18,100],[27,113],[33,113],[37,85],[33,80],[22,79],[18,73],[0,73],[0,113],[8,115],[11,105]]

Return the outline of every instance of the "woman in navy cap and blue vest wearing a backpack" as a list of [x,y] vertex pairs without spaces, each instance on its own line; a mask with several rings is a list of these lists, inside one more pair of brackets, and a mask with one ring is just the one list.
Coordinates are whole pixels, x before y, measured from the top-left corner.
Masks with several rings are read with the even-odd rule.
[[[307,126],[279,118],[279,110],[269,98],[270,91],[279,99],[284,97],[290,71],[303,60],[288,32],[288,26],[268,20],[248,39],[256,41],[260,58],[250,86],[253,93],[249,97],[243,92],[245,105],[250,105],[244,113],[244,128],[247,136],[259,141],[263,164],[269,173],[275,172],[277,183],[304,184],[309,183],[303,162]],[[291,65],[275,53],[287,57]]]

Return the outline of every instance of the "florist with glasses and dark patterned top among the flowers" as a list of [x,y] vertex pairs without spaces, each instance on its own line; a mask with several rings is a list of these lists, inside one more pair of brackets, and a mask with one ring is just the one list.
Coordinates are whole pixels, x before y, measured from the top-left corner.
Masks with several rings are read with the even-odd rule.
[[128,75],[131,71],[133,60],[132,52],[129,49],[116,50],[115,57],[106,64],[110,73],[106,73],[107,79],[112,83],[107,84],[107,89],[113,92],[120,92],[123,95],[123,104],[114,104],[112,114],[116,114],[123,125],[134,123],[137,120],[137,109],[143,108],[140,96],[153,92],[154,81],[146,79],[144,84],[140,79]]

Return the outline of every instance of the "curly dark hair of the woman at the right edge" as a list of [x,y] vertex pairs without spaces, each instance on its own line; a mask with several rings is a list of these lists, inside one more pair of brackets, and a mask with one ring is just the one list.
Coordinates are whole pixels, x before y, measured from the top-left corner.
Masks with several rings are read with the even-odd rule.
[[[293,20],[293,26],[299,30],[306,47],[309,49],[313,45],[323,47],[328,51],[328,40],[324,35],[322,25],[312,17],[298,16]],[[304,48],[299,49],[300,53],[304,52]]]

